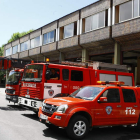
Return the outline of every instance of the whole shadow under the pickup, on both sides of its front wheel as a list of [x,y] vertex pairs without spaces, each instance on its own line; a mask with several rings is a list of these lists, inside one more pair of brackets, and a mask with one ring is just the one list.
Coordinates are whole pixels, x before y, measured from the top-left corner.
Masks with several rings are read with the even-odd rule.
[[[55,138],[57,140],[70,140],[64,129],[45,129],[43,130],[45,137]],[[140,140],[134,127],[106,127],[93,128],[92,131],[84,138],[84,140]]]

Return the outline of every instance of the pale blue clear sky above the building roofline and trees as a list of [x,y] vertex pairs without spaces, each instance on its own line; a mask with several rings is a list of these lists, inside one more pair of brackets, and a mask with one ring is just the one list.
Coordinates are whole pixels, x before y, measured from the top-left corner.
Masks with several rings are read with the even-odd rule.
[[0,0],[0,47],[13,33],[38,29],[97,0]]

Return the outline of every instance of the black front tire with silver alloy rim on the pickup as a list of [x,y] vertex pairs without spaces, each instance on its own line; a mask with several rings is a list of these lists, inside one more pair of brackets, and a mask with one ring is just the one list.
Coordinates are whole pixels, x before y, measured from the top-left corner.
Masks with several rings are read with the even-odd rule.
[[72,139],[83,139],[88,134],[88,131],[89,131],[89,122],[85,117],[81,115],[74,116],[70,120],[68,127],[66,128],[67,135]]

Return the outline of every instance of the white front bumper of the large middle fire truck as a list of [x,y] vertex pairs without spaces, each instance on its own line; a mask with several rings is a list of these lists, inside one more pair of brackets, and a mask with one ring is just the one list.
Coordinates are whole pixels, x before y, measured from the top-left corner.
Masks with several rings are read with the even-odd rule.
[[39,109],[39,107],[42,106],[42,101],[34,100],[34,99],[28,99],[25,97],[18,97],[18,104],[23,105],[26,107],[30,107],[33,109]]

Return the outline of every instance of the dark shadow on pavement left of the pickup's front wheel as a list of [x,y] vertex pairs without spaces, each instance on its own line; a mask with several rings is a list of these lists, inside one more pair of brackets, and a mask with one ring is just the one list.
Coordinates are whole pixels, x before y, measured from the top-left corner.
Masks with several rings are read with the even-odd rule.
[[[47,127],[47,126],[46,126]],[[65,129],[61,129],[61,128],[55,128],[55,129],[50,129],[50,128],[46,128],[45,130],[43,130],[44,136],[49,138],[54,138],[57,140],[70,140],[69,137],[66,134]]]

